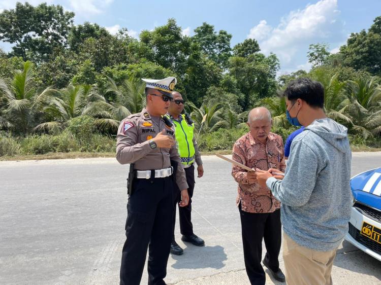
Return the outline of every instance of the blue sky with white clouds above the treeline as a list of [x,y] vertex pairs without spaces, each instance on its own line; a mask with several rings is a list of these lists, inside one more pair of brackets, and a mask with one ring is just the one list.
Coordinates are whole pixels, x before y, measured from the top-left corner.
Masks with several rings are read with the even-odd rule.
[[[20,1],[24,2],[24,1]],[[381,16],[381,1],[367,0],[211,0],[211,1],[122,1],[122,0],[48,0],[29,1],[60,4],[76,13],[75,24],[89,21],[115,33],[126,27],[138,38],[143,29],[151,30],[175,18],[183,33],[192,35],[203,22],[218,31],[233,35],[232,46],[255,38],[266,55],[277,54],[280,73],[310,68],[306,53],[309,44],[325,42],[336,52],[351,32],[369,28]],[[16,1],[0,0],[1,9],[12,9]],[[0,42],[6,51],[10,46]]]

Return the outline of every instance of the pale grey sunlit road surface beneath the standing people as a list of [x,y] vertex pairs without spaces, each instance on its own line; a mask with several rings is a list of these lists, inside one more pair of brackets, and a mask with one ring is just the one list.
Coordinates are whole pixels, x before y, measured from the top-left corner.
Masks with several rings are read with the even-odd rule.
[[[177,228],[184,255],[170,257],[166,282],[249,284],[231,166],[203,161],[193,222],[206,245],[182,243]],[[380,165],[381,153],[354,153],[352,174]],[[0,284],[117,284],[127,171],[110,158],[0,162]],[[335,284],[380,284],[381,262],[344,242],[332,276]]]

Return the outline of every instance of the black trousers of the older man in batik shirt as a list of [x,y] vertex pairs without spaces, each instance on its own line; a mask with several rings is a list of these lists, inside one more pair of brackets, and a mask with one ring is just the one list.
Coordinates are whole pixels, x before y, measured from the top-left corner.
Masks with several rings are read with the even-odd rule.
[[273,271],[278,271],[281,243],[280,210],[272,213],[249,213],[242,211],[241,217],[243,257],[246,273],[251,284],[264,285],[266,274],[261,265],[262,239],[265,240],[265,260]]

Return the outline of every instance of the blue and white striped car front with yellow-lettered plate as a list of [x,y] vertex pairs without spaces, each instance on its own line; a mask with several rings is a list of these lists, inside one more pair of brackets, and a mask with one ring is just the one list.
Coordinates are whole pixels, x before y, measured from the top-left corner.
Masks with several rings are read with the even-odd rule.
[[345,240],[381,261],[381,167],[351,179],[353,205]]

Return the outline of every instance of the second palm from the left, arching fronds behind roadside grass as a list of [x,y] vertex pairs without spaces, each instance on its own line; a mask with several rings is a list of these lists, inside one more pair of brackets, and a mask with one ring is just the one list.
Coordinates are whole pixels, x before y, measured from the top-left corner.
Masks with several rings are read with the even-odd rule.
[[[50,99],[44,107],[45,122],[35,127],[36,131],[58,133],[62,125],[73,118],[89,115],[97,111],[104,98],[89,85],[69,85],[59,95]],[[98,105],[97,105],[98,104]]]

